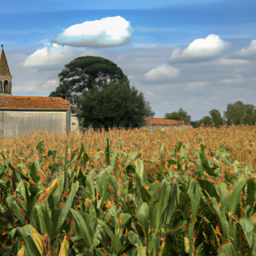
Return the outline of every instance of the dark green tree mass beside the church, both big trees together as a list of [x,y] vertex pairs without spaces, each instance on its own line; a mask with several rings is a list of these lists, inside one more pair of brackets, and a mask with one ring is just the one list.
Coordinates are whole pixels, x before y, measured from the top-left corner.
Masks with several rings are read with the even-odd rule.
[[130,86],[114,62],[94,56],[78,57],[58,74],[59,85],[49,96],[67,99],[78,109],[84,127],[139,127],[154,116],[142,92]]

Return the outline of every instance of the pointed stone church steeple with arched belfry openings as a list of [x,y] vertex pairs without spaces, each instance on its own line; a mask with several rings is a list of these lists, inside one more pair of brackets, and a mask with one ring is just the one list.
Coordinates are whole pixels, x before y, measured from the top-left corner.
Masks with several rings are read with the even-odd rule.
[[11,96],[11,78],[8,63],[2,46],[0,55],[0,96]]

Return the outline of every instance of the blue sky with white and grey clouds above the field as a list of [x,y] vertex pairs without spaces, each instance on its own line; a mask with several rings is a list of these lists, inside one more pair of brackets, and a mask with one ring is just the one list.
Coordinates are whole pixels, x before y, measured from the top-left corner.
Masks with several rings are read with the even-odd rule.
[[12,95],[48,96],[65,64],[93,55],[115,62],[155,117],[256,105],[255,9],[255,0],[1,1]]

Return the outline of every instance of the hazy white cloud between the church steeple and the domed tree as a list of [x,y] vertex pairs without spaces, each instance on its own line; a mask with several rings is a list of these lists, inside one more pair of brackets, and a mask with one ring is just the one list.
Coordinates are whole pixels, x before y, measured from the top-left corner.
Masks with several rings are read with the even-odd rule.
[[70,61],[73,55],[72,49],[68,46],[60,46],[53,43],[50,47],[43,47],[37,49],[34,53],[29,55],[24,66],[56,66],[63,65],[68,60]]

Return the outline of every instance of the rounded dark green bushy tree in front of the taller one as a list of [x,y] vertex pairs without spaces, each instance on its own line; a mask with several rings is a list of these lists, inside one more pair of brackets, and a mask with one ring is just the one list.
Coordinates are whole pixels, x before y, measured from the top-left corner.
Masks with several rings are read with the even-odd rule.
[[126,81],[94,84],[80,103],[79,117],[87,127],[140,127],[144,117],[154,116],[142,92]]

